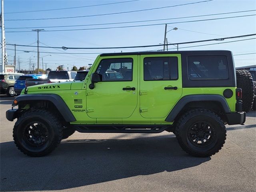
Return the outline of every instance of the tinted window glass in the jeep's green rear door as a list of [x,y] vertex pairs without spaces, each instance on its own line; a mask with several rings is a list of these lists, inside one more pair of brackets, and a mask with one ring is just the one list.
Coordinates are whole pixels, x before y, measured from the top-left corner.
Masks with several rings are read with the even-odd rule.
[[143,61],[144,81],[177,80],[177,57],[148,57]]

